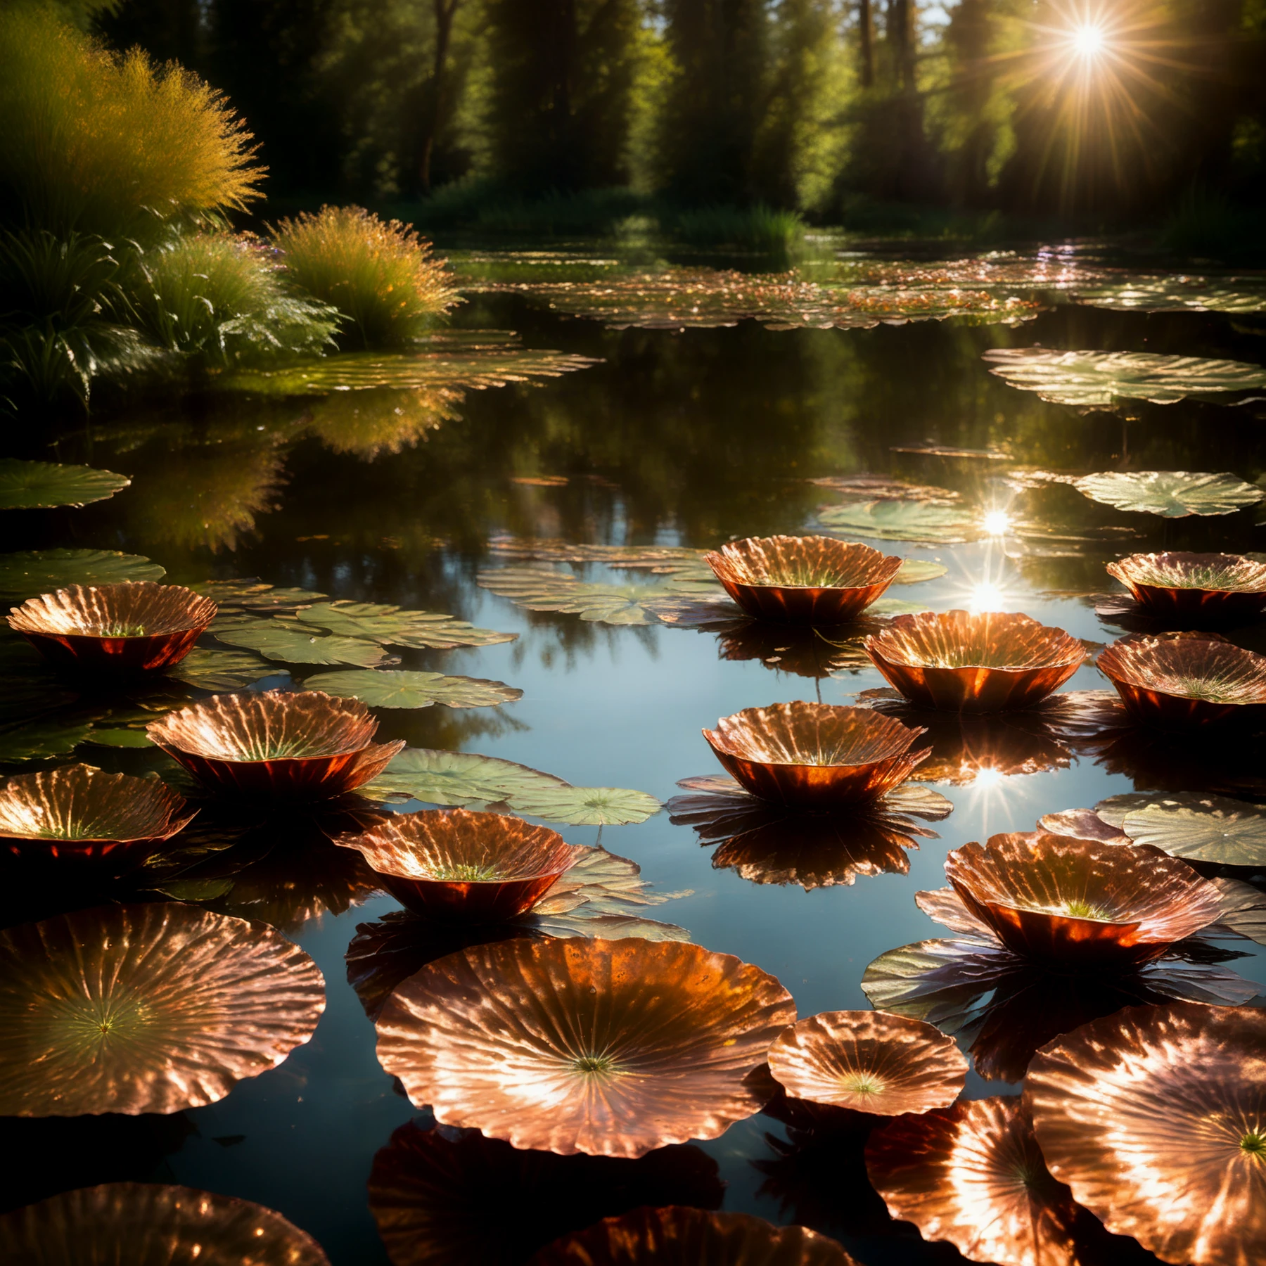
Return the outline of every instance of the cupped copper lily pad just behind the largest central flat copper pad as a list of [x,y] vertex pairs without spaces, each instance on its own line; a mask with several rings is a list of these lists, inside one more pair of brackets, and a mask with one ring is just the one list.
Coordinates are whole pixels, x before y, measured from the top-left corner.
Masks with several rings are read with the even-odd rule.
[[401,905],[458,923],[523,914],[589,852],[548,827],[468,809],[396,814],[334,843],[360,849]]

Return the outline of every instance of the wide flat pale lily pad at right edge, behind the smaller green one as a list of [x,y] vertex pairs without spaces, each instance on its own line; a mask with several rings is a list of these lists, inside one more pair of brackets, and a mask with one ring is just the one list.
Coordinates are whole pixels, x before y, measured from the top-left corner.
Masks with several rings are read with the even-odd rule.
[[1077,408],[1112,408],[1119,400],[1175,404],[1188,396],[1218,396],[1266,387],[1266,368],[1243,361],[1152,352],[1056,352],[1043,347],[985,352],[990,373],[1042,400]]

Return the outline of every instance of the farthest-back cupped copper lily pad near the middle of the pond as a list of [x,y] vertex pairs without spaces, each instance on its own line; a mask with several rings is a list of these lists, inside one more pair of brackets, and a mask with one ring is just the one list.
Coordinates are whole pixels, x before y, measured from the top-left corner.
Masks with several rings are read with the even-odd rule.
[[704,558],[748,615],[794,624],[855,619],[901,570],[900,558],[832,537],[747,537]]

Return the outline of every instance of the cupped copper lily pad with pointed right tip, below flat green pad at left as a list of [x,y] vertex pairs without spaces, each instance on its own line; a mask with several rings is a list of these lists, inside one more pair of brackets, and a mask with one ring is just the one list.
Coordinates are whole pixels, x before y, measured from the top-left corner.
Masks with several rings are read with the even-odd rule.
[[377,728],[354,699],[270,690],[214,695],[146,733],[211,790],[324,799],[376,779],[405,746],[371,742]]

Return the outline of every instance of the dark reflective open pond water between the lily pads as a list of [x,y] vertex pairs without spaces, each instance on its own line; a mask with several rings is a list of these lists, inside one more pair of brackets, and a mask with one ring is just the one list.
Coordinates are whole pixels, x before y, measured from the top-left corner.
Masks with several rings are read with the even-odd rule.
[[[1009,530],[950,546],[871,541],[948,567],[946,576],[891,596],[944,610],[968,605],[989,584],[996,595],[987,606],[1023,610],[1100,643],[1122,632],[1101,624],[1086,598],[1109,587],[1105,560],[1158,548],[1250,551],[1266,542],[1252,510],[1162,520],[1093,504],[1062,484],[1024,490],[1014,479],[1006,482],[1019,467],[1233,471],[1252,481],[1266,467],[1261,405],[1129,401],[1115,411],[1079,414],[1006,385],[981,361],[991,347],[1041,343],[1256,363],[1266,352],[1260,316],[1148,315],[1057,303],[1015,327],[950,319],[771,330],[743,320],[732,328],[620,330],[549,311],[530,295],[480,294],[457,323],[518,330],[528,347],[599,363],[543,384],[467,391],[463,399],[386,390],[203,395],[94,417],[90,430],[61,442],[56,460],[130,475],[133,486],[84,509],[13,514],[6,548],[122,549],[161,562],[172,581],[260,576],[518,633],[514,642],[480,649],[406,652],[405,667],[505,681],[522,687],[520,701],[384,713],[380,737],[481,752],[577,785],[636,787],[668,800],[679,779],[718,772],[700,737],[717,718],[794,699],[852,703],[855,693],[882,680],[868,667],[817,679],[810,670],[787,671],[777,637],[743,641],[714,630],[527,613],[476,585],[476,573],[496,562],[490,538],[711,547],[810,527],[819,506],[839,500],[810,479],[894,475],[957,490],[971,506],[1003,509],[1046,536],[1025,539]],[[442,410],[452,417],[427,429]],[[386,439],[366,441],[367,430]],[[392,430],[395,442],[420,439],[391,452]],[[929,442],[1001,448],[1009,458],[894,451]],[[375,443],[382,451],[371,456]],[[1079,534],[1084,539],[1051,543]],[[584,576],[630,581],[596,565]],[[1065,689],[1106,685],[1086,666]],[[1017,742],[995,736],[986,763],[1005,767]],[[638,825],[605,827],[601,843],[637,861],[657,890],[689,890],[651,917],[775,974],[801,1017],[868,1008],[860,981],[871,960],[946,934],[917,909],[914,894],[943,885],[950,848],[1032,829],[1041,814],[1136,786],[1212,786],[1217,771],[1201,771],[1195,755],[1190,763],[1180,758],[1176,772],[1157,772],[1146,752],[1101,762],[1084,752],[1053,768],[1041,766],[1058,765],[1057,756],[1039,753],[1029,762],[1037,772],[937,784],[955,812],[936,824],[939,838],[922,839],[909,852],[909,874],[862,875],[852,885],[813,891],[714,867],[711,847],[701,846],[691,827],[674,825],[667,812]],[[147,760],[89,748],[77,758],[129,770]],[[599,832],[568,827],[563,834],[592,844]],[[179,1182],[277,1209],[309,1231],[335,1266],[386,1261],[366,1199],[371,1162],[394,1129],[429,1118],[379,1067],[373,1028],[347,984],[343,953],[357,924],[396,903],[371,895],[342,909],[337,882],[305,872],[301,852],[260,882],[275,891],[256,894],[254,917],[272,912],[325,976],[328,1008],[311,1043],[223,1101],[177,1118],[0,1123],[18,1171],[8,1203],[119,1177]],[[325,898],[314,891],[322,884]],[[342,913],[327,908],[327,898]],[[1266,982],[1262,947],[1237,948],[1250,956],[1234,970]],[[967,1094],[1017,1089],[972,1072]],[[785,1124],[762,1114],[698,1144],[725,1184],[723,1208],[803,1220],[876,1266],[957,1260],[947,1244],[924,1244],[909,1227],[882,1227],[865,1198],[858,1146],[828,1142],[814,1151],[787,1137]],[[484,1217],[514,1215],[513,1193],[487,1189],[477,1196]],[[690,1198],[687,1190],[684,1199]]]

